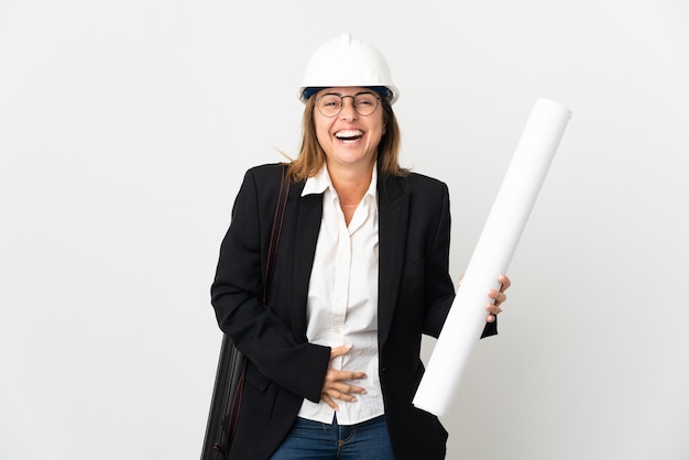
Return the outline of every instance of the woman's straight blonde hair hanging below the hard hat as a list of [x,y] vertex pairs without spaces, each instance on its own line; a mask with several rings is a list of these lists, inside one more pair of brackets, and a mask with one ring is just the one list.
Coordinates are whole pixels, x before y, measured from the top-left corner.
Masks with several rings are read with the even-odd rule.
[[[385,134],[378,145],[378,169],[382,176],[405,176],[408,169],[400,166],[401,133],[395,112],[386,99],[382,99],[383,123]],[[318,143],[316,136],[316,123],[314,111],[316,110],[316,97],[310,97],[304,108],[302,118],[302,146],[299,156],[289,164],[287,176],[295,182],[306,180],[320,171],[326,163],[326,153]]]

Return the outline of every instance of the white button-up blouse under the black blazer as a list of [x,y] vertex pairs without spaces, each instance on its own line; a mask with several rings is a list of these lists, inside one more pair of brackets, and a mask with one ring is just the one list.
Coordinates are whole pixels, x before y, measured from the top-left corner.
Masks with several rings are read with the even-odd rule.
[[[353,425],[383,415],[378,373],[378,200],[376,168],[371,185],[349,223],[339,205],[328,168],[306,180],[302,196],[322,194],[322,220],[316,244],[306,305],[306,336],[311,343],[352,349],[332,360],[333,369],[363,371],[351,382],[365,388],[356,402],[337,399],[340,425]],[[299,417],[331,424],[335,410],[322,399],[304,399]]]

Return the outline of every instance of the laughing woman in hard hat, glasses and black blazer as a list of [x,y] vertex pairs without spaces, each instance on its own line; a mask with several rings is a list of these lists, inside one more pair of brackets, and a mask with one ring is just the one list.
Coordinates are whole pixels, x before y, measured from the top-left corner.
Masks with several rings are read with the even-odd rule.
[[[244,176],[211,288],[220,328],[249,359],[230,459],[445,458],[447,431],[412,398],[422,333],[439,335],[455,297],[449,194],[398,166],[397,96],[361,40],[311,56],[265,305],[282,167]],[[500,281],[483,336],[496,333]]]

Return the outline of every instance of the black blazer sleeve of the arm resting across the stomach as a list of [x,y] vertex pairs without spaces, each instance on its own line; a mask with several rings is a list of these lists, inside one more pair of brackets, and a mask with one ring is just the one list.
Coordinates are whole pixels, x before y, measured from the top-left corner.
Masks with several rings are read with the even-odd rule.
[[256,168],[247,172],[234,200],[210,289],[211,304],[220,329],[262,374],[318,402],[330,348],[298,343],[277,315],[261,302],[280,176],[266,180],[260,173]]

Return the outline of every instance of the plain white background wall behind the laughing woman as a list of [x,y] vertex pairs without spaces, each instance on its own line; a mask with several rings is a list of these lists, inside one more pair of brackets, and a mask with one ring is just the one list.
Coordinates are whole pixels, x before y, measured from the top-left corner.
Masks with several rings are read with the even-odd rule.
[[448,458],[689,458],[689,3],[2,0],[1,459],[198,458],[234,194],[346,31],[450,186],[456,277],[535,99],[573,112]]

